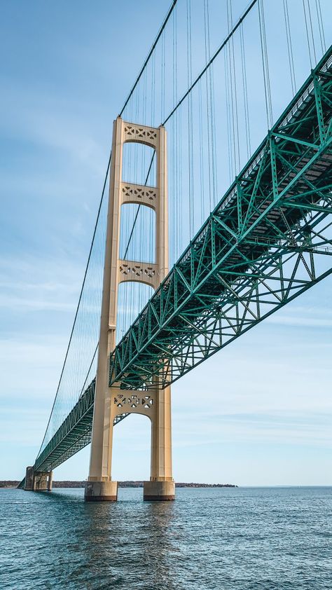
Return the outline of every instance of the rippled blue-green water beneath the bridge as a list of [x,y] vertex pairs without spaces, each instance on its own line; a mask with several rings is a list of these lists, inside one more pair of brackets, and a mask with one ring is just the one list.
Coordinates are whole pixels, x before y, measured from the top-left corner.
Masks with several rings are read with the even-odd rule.
[[0,490],[0,588],[332,589],[332,488]]

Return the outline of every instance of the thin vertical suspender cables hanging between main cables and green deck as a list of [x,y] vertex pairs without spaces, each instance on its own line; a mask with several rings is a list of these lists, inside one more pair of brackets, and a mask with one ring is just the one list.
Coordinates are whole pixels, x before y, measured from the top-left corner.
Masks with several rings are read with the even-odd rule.
[[[280,105],[289,102],[291,96],[286,93],[296,93],[303,43],[310,67],[326,50],[326,15],[320,0],[275,0],[271,4],[272,8],[267,0],[251,0],[239,14],[233,0],[172,1],[119,111],[125,121],[167,128],[171,265],[240,173],[252,146],[272,127]],[[298,20],[300,13],[303,24]],[[270,41],[276,27],[282,51],[276,51]],[[285,92],[282,100],[280,88]],[[41,451],[95,378],[110,161]],[[125,144],[123,181],[153,186],[155,170],[151,148]],[[120,258],[155,260],[153,210],[123,205]],[[120,284],[117,340],[150,296],[151,287],[145,284]]]

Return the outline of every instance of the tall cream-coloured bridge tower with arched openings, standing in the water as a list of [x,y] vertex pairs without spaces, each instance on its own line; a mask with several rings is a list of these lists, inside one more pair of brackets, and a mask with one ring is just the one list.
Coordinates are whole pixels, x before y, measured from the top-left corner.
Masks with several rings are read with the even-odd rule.
[[[156,186],[123,181],[123,144],[126,142],[145,144],[155,150]],[[120,117],[113,123],[95,409],[90,472],[85,483],[85,500],[88,501],[117,500],[118,483],[111,479],[113,423],[123,413],[139,413],[151,420],[151,477],[150,481],[144,482],[144,500],[174,500],[170,387],[146,391],[109,387],[109,357],[116,346],[118,285],[124,281],[137,281],[157,289],[168,273],[166,142],[166,130],[162,126],[150,128],[126,123]],[[125,203],[140,204],[155,211],[154,262],[119,258],[120,212]]]

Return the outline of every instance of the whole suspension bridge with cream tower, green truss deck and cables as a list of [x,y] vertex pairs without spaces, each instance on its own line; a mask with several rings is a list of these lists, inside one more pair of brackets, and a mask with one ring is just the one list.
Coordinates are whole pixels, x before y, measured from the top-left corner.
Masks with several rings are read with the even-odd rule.
[[172,383],[331,274],[329,15],[295,4],[237,14],[227,0],[221,39],[212,2],[172,2],[113,124],[55,402],[20,488],[50,490],[92,442],[85,499],[116,500],[113,427],[140,413],[144,499],[173,500]]

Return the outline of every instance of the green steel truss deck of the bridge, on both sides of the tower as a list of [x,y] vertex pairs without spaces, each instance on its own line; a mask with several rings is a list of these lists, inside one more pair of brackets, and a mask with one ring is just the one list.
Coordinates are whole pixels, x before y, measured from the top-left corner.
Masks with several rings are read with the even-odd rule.
[[[169,385],[332,272],[331,67],[329,48],[116,346],[110,385]],[[37,471],[90,442],[94,398],[95,380]]]

